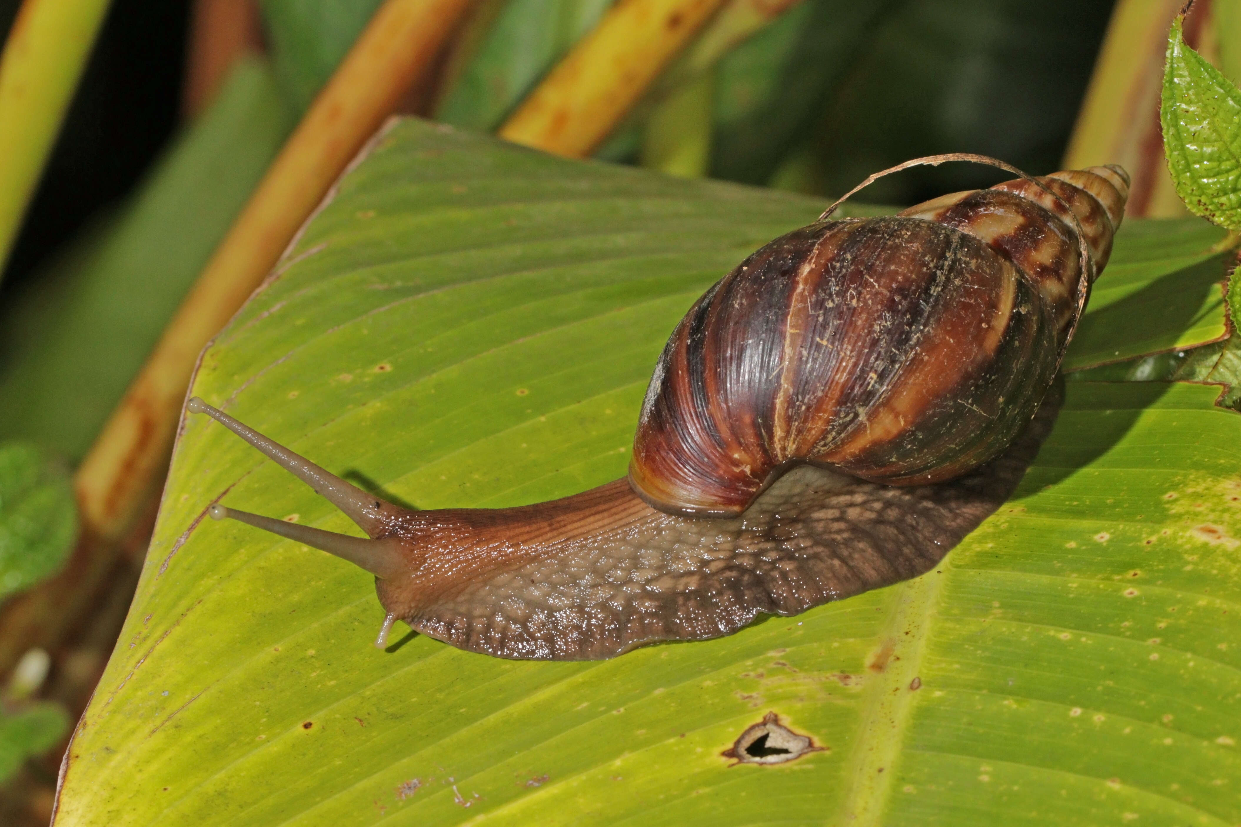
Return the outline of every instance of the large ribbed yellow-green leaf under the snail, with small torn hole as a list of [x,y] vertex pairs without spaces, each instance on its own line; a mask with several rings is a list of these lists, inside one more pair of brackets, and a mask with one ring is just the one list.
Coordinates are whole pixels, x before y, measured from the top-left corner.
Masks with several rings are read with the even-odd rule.
[[[406,120],[194,391],[421,507],[567,495],[624,474],[694,299],[822,206]],[[1073,383],[936,572],[592,663],[375,650],[372,578],[204,516],[346,520],[190,418],[56,823],[1234,825],[1241,417],[1214,398]],[[768,712],[825,749],[731,766]]]

